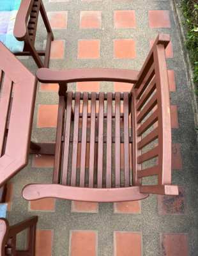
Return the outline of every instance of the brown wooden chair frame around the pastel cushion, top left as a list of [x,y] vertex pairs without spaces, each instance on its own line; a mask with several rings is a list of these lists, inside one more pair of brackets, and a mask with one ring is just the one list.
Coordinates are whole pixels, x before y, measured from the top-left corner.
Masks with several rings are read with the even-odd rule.
[[[36,28],[38,15],[41,13],[47,30],[47,44],[45,51],[35,49]],[[54,35],[47,18],[42,0],[22,0],[15,21],[14,35],[19,41],[24,41],[24,51],[15,52],[17,56],[33,56],[38,67],[49,67],[50,47]],[[40,56],[45,56],[44,61]]]

